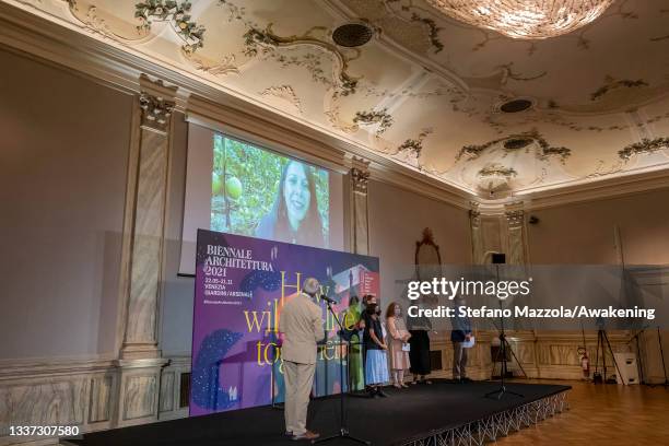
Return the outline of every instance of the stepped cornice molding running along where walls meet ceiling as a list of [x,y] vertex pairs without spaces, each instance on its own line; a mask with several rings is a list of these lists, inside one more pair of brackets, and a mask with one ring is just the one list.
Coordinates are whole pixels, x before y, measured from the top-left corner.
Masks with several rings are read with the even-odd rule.
[[[36,4],[39,4],[39,8],[35,7]],[[54,5],[60,5],[58,8],[61,9],[58,10]],[[236,118],[239,115],[239,110],[246,110],[245,113],[249,118],[245,120],[245,126],[254,121],[254,119],[258,120],[259,116],[263,116],[265,120],[261,121],[263,125],[253,127],[253,129],[258,131],[262,131],[267,122],[273,121],[281,121],[289,127],[308,128],[310,134],[309,142],[308,144],[301,145],[301,148],[308,149],[308,145],[319,144],[326,140],[328,141],[327,144],[331,146],[352,148],[350,149],[351,153],[367,156],[373,160],[375,165],[383,166],[384,179],[382,180],[397,184],[398,186],[414,190],[416,193],[426,195],[441,201],[453,202],[458,207],[461,207],[462,197],[470,197],[472,193],[468,185],[453,180],[453,178],[444,179],[436,175],[427,175],[430,173],[420,175],[416,169],[383,157],[380,154],[369,151],[368,148],[366,148],[365,152],[365,146],[360,141],[340,138],[329,126],[318,126],[306,121],[291,121],[286,124],[286,117],[270,111],[270,107],[254,101],[253,97],[245,95],[243,92],[231,90],[225,83],[214,83],[206,77],[200,77],[197,73],[185,70],[184,67],[168,63],[155,57],[151,51],[141,52],[140,49],[145,50],[142,46],[118,45],[116,39],[103,38],[101,33],[94,33],[92,30],[82,26],[81,23],[73,23],[72,20],[67,20],[62,14],[58,13],[58,11],[63,9],[68,9],[68,4],[61,0],[43,0],[40,2],[37,0],[30,2],[27,0],[23,2],[3,0],[0,2],[0,21],[2,21],[0,42],[10,49],[13,48],[34,55],[45,62],[54,62],[52,66],[59,69],[69,67],[73,72],[83,73],[83,75],[96,82],[116,89],[136,91],[139,73],[148,72],[155,78],[164,79],[179,86],[177,109],[184,109],[186,99],[195,93],[209,98],[214,104],[212,106],[223,107],[222,104],[224,104],[224,107],[230,109],[230,114],[226,116],[231,119]],[[165,31],[167,32],[168,30],[165,28]],[[254,91],[254,94],[257,96],[257,90]],[[291,141],[284,134],[285,130],[278,131],[277,138],[270,142],[281,144],[282,146],[290,145]],[[617,149],[619,148],[612,149],[613,156],[615,156]],[[326,149],[322,152],[328,153]],[[308,150],[305,153],[308,153]],[[307,155],[303,156],[308,157]],[[382,175],[382,171],[378,171],[379,175]],[[630,191],[667,187],[669,185],[668,178],[669,171],[665,165],[664,168],[662,166],[655,166],[653,171],[621,172],[620,175],[599,178],[597,181],[542,185],[537,188],[528,188],[521,193],[524,197],[543,197],[545,198],[543,201],[545,203],[564,203],[580,199],[591,199],[591,197],[602,198]],[[633,186],[630,186],[632,184]],[[549,200],[548,197],[566,198]]]

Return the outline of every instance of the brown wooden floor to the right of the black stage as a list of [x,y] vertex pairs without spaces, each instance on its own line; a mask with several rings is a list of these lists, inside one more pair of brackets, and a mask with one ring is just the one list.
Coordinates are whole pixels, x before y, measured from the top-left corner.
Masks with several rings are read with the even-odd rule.
[[573,386],[571,409],[500,438],[502,446],[669,445],[669,388],[531,380]]

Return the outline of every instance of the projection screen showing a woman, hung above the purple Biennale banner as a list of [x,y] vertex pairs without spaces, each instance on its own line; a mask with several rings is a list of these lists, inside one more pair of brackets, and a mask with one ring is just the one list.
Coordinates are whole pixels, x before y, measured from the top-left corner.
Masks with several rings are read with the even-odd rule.
[[189,124],[179,274],[198,228],[343,250],[342,175]]

